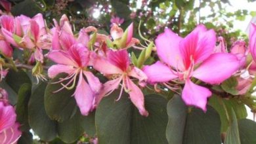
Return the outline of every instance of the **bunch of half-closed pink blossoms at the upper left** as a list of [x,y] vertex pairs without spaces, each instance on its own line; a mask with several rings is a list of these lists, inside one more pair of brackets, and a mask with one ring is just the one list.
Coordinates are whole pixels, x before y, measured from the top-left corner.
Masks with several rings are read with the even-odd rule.
[[16,18],[1,16],[1,26],[6,41],[18,48],[33,49],[35,60],[43,62],[42,49],[51,47],[51,39],[47,36],[42,14],[37,14],[33,18],[24,15]]

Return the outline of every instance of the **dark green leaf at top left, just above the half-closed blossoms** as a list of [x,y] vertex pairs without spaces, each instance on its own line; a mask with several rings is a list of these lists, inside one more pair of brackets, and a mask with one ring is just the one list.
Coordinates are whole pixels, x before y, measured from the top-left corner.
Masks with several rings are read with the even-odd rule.
[[41,13],[40,7],[33,0],[25,0],[16,5],[14,5],[11,9],[11,13],[13,16],[19,16],[20,14],[24,14],[26,16],[33,17],[35,14]]

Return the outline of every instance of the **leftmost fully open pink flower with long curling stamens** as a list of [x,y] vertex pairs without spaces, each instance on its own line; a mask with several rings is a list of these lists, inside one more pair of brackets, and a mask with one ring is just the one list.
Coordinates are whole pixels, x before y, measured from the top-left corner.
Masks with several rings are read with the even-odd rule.
[[[74,96],[82,115],[89,115],[89,112],[95,108],[95,97],[102,86],[98,78],[87,70],[89,56],[89,50],[81,44],[72,45],[66,51],[52,50],[48,54],[49,59],[58,63],[49,68],[48,75],[50,78],[56,77],[59,73],[68,73],[68,77],[64,80],[70,79],[70,81],[62,84],[63,87],[60,90],[68,88],[68,85],[72,84],[72,82],[72,86],[74,86],[75,79],[78,77]],[[87,80],[85,80],[84,76]]]

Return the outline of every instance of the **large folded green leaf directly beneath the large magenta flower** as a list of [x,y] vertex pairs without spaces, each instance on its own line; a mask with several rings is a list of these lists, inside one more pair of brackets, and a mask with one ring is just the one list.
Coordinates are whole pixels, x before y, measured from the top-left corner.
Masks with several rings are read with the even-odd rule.
[[187,111],[180,96],[175,95],[167,105],[169,122],[166,136],[172,143],[221,143],[221,120],[217,111],[207,107],[207,112],[201,109]]

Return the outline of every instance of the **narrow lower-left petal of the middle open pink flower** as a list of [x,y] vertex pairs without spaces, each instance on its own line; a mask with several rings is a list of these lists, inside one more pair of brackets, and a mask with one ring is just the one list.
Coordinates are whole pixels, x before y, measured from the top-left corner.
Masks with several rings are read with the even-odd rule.
[[112,92],[113,90],[116,90],[119,87],[119,83],[121,82],[121,80],[121,77],[119,77],[117,79],[105,82],[102,86],[102,90],[100,90],[99,94],[95,98],[96,105],[100,103],[101,99],[104,98],[106,94]]

